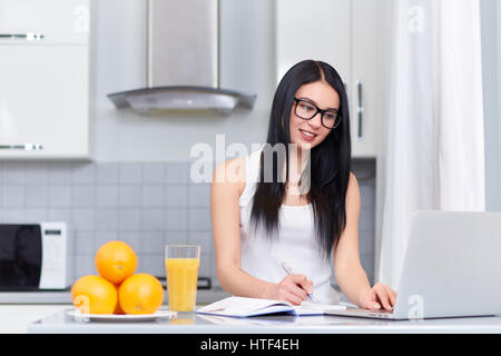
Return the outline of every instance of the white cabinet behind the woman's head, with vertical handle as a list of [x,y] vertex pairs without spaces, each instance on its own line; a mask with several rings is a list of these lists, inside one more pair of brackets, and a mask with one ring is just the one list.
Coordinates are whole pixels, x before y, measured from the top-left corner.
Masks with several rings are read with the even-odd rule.
[[377,149],[377,1],[275,0],[277,80],[304,59],[332,65],[350,100],[352,156]]

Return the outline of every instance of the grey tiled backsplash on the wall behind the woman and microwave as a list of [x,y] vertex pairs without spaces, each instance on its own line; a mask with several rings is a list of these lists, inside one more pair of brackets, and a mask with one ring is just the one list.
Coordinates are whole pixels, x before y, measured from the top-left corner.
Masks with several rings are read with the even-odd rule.
[[[68,222],[75,239],[75,278],[96,273],[94,254],[108,240],[130,244],[138,254],[138,270],[155,276],[165,276],[165,245],[199,244],[199,275],[218,284],[210,185],[191,182],[189,169],[189,162],[4,161],[0,222]],[[353,170],[362,195],[361,259],[372,280],[375,181],[363,177],[374,172],[374,162],[355,162]]]

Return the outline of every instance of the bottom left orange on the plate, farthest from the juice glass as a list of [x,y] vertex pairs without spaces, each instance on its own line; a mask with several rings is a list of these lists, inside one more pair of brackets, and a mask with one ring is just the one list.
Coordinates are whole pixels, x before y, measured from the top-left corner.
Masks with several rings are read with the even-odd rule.
[[71,286],[71,300],[84,314],[112,314],[118,294],[105,278],[89,275],[80,277]]

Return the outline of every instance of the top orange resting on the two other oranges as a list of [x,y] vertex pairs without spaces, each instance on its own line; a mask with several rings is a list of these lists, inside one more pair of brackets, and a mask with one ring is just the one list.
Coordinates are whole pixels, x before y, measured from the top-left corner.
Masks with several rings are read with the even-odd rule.
[[102,278],[118,285],[136,271],[137,256],[128,244],[109,241],[99,247],[95,263]]

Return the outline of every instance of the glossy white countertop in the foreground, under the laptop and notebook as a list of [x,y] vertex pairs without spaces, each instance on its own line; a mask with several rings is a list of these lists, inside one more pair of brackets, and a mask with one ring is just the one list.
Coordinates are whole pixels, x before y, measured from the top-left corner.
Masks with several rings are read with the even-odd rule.
[[28,333],[92,334],[501,334],[501,316],[442,318],[420,322],[377,320],[334,316],[261,316],[252,318],[212,317],[179,313],[171,319],[149,323],[76,322],[58,310],[28,326]]

